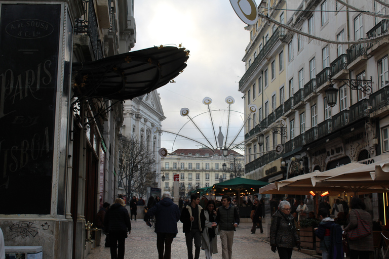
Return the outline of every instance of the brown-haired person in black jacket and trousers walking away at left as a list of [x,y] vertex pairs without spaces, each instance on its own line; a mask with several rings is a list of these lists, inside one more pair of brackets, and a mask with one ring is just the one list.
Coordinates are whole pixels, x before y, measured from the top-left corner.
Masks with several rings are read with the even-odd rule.
[[105,214],[104,228],[109,235],[111,259],[124,259],[124,243],[131,234],[131,221],[124,200],[116,198]]

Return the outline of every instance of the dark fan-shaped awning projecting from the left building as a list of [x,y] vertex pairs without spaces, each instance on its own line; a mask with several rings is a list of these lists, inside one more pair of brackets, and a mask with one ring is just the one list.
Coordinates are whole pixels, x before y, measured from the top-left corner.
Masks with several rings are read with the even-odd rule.
[[189,51],[153,47],[93,62],[73,63],[76,97],[128,100],[148,94],[186,67]]

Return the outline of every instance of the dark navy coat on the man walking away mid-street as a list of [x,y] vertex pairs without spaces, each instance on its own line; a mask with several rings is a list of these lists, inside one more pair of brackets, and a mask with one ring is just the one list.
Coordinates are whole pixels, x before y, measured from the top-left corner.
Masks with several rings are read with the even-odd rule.
[[155,232],[177,233],[177,222],[180,220],[180,209],[172,199],[164,198],[147,210],[144,221],[155,216]]

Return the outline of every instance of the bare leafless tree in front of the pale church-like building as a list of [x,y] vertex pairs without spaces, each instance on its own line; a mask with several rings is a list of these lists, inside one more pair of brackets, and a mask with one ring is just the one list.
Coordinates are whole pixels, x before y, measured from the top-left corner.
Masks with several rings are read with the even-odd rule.
[[128,199],[146,196],[147,187],[154,184],[153,154],[135,136],[122,138],[119,149],[119,184],[126,187]]

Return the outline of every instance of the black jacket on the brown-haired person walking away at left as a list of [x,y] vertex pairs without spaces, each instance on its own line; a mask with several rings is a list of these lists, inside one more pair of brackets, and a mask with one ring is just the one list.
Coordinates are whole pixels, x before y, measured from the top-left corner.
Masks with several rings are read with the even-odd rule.
[[104,218],[104,230],[108,234],[126,234],[131,231],[128,210],[119,203],[113,203]]

